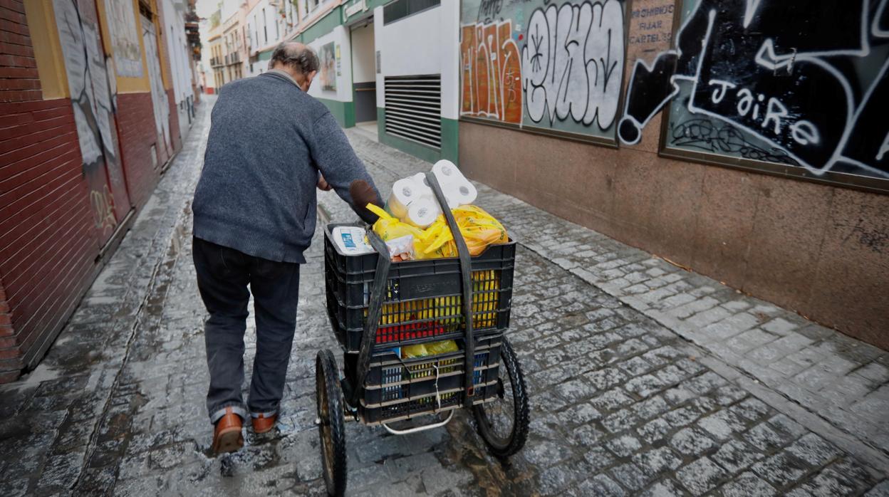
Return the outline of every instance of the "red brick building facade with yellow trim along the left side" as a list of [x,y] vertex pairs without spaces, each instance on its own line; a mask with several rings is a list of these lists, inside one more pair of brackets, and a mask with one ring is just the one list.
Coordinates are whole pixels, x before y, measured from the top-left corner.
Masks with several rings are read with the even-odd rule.
[[0,4],[0,381],[44,356],[181,147],[181,13]]

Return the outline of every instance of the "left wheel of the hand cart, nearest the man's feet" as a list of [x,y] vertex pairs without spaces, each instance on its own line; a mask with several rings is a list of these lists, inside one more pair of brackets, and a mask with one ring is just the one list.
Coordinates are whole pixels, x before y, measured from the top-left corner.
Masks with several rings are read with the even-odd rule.
[[346,429],[336,359],[327,349],[315,359],[315,398],[324,483],[328,494],[340,496],[346,493]]

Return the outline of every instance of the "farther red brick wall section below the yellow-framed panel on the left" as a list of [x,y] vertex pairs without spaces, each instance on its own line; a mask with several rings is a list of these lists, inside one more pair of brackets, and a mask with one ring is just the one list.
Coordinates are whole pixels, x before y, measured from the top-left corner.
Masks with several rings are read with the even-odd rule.
[[[151,93],[117,94],[117,133],[124,173],[130,201],[137,207],[145,204],[160,177],[158,172],[163,164],[160,161],[164,145],[157,143],[155,129]],[[151,164],[152,146],[156,146],[156,167]]]

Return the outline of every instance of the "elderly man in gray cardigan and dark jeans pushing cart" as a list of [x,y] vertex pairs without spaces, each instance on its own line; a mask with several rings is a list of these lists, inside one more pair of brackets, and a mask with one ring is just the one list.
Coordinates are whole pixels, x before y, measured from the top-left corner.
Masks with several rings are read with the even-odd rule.
[[[269,69],[220,90],[193,204],[197,287],[210,313],[204,341],[216,453],[244,445],[248,413],[257,433],[275,425],[296,329],[302,253],[315,232],[316,186],[336,190],[367,221],[373,218],[364,206],[380,204],[340,126],[307,93],[316,54],[303,44],[280,44]],[[251,293],[256,357],[244,405]]]

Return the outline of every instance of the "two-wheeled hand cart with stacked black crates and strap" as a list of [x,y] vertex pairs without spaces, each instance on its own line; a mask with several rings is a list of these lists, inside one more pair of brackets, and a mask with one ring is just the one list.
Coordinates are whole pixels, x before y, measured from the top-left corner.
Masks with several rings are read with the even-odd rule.
[[[442,427],[454,410],[472,411],[494,455],[525,445],[528,397],[509,328],[516,243],[491,245],[470,257],[436,177],[427,182],[442,205],[459,258],[392,262],[371,229],[376,253],[346,255],[324,236],[327,312],[344,351],[344,378],[329,349],[316,356],[316,404],[324,481],[331,495],[346,490],[345,421],[381,425],[404,435]],[[401,348],[453,340],[458,350],[403,358]],[[439,414],[447,413],[444,421]],[[435,415],[433,422],[396,429],[391,423]]]

